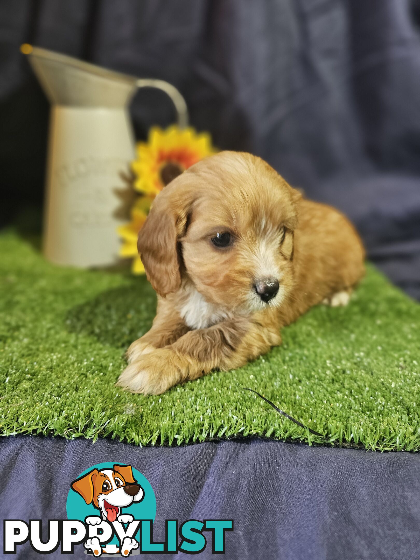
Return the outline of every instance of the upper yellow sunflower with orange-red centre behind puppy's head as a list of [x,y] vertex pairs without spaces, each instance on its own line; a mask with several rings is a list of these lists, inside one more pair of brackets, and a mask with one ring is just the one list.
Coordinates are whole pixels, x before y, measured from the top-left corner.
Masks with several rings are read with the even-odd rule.
[[134,188],[155,197],[185,169],[214,153],[208,133],[176,126],[162,130],[153,127],[147,142],[137,145],[137,158],[132,169],[136,174]]

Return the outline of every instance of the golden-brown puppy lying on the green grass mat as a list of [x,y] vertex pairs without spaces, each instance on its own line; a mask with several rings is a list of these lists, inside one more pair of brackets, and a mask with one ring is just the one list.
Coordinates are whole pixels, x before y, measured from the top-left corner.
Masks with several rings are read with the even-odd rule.
[[145,394],[242,366],[281,344],[282,326],[313,305],[346,304],[365,255],[342,214],[239,152],[199,161],[167,185],[138,249],[157,314],[129,347],[118,385]]

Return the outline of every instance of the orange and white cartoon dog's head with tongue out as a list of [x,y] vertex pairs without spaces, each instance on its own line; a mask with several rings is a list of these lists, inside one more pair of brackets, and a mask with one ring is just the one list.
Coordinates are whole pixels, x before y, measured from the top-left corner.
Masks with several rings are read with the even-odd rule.
[[122,507],[141,502],[143,488],[133,477],[131,466],[114,465],[114,469],[93,469],[83,477],[73,480],[71,488],[80,494],[86,503],[91,503],[104,519],[116,520]]

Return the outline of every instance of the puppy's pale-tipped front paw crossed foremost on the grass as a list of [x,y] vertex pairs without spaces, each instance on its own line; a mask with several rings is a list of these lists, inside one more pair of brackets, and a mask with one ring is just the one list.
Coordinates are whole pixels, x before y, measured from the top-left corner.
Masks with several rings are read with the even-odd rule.
[[164,393],[186,377],[175,361],[174,352],[166,348],[143,354],[125,368],[116,385],[132,393],[145,395]]

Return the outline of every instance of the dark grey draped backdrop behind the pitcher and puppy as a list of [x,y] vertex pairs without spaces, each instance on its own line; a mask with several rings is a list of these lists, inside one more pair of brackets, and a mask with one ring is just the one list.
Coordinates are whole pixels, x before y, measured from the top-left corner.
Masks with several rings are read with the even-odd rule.
[[[420,0],[2,0],[3,221],[43,193],[48,105],[23,41],[174,83],[196,128],[346,211],[420,297]],[[132,115],[139,138],[174,118],[154,91]]]

